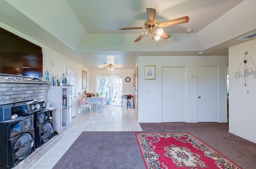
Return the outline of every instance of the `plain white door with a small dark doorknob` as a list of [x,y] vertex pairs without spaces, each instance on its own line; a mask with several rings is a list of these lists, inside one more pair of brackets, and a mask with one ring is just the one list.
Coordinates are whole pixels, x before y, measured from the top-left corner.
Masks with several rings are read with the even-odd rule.
[[218,66],[197,67],[197,121],[218,122]]

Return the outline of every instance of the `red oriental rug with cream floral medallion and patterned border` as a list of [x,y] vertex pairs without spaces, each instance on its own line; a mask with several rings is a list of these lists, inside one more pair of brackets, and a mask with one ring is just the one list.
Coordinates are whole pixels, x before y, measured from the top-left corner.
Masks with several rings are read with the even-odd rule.
[[136,133],[147,169],[240,169],[190,133]]

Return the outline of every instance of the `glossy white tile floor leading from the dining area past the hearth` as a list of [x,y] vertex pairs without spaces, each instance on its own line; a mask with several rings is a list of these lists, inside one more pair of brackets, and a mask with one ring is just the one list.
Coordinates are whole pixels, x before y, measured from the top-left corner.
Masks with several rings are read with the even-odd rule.
[[108,106],[103,113],[82,113],[72,119],[72,127],[62,134],[62,139],[29,169],[52,169],[82,131],[142,131],[135,109]]

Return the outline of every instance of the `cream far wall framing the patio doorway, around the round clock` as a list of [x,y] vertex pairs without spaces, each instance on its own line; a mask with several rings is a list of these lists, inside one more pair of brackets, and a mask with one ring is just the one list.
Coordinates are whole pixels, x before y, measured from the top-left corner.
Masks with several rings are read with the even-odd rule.
[[[133,87],[133,74],[135,70],[133,69],[127,69],[127,70],[112,70],[108,71],[106,69],[100,69],[100,70],[90,70],[90,77],[88,78],[88,83],[90,85],[90,89],[88,90],[89,92],[96,91],[95,89],[95,77],[97,75],[102,75],[102,74],[119,74],[124,76],[124,89],[123,89],[123,94],[132,94],[134,92],[134,87]],[[131,81],[126,82],[125,78],[130,77]]]

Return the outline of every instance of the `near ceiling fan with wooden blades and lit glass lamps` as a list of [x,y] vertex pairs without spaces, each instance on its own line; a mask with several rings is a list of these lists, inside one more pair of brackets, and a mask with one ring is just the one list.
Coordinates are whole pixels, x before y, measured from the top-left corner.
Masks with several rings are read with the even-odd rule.
[[171,37],[169,34],[165,33],[162,28],[172,25],[183,24],[188,22],[189,20],[188,16],[184,16],[182,18],[170,20],[159,24],[158,20],[156,19],[156,9],[154,8],[147,8],[147,16],[148,20],[144,22],[143,27],[119,28],[119,30],[147,29],[142,31],[141,35],[134,42],[138,42],[140,40],[145,41],[148,37],[148,34],[150,33],[152,40],[155,39],[156,41],[158,41],[160,37],[164,39],[168,39]]

